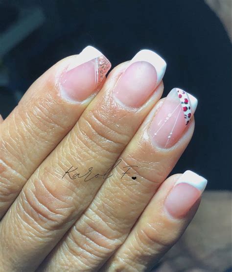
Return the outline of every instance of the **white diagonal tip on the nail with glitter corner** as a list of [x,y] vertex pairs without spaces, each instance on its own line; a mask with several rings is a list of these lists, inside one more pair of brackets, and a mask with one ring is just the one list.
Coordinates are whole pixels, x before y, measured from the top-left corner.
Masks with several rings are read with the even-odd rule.
[[71,70],[102,55],[103,54],[99,50],[89,45],[85,47],[79,55],[76,56],[75,60],[70,64],[68,70]]

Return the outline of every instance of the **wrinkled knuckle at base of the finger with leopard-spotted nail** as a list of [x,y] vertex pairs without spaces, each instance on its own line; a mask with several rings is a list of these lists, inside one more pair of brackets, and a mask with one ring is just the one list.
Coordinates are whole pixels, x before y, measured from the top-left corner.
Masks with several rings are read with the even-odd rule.
[[72,267],[93,270],[107,256],[121,245],[118,233],[96,214],[82,216],[72,228],[65,245],[62,247],[63,263],[72,263]]

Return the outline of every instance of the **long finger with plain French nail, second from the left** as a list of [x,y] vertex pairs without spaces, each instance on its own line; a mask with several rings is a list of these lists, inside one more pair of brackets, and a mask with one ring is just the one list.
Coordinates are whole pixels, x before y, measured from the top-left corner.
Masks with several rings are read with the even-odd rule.
[[[4,239],[0,248],[7,250],[0,250],[0,260],[10,256],[5,270],[16,264],[21,270],[36,268],[87,208],[104,176],[108,176],[109,169],[161,97],[164,70],[161,57],[144,50],[131,63],[110,73],[77,124],[31,176],[3,218]],[[121,101],[122,92],[134,92],[133,101]],[[29,234],[25,236],[26,230]],[[12,245],[9,240],[13,238],[23,243]]]

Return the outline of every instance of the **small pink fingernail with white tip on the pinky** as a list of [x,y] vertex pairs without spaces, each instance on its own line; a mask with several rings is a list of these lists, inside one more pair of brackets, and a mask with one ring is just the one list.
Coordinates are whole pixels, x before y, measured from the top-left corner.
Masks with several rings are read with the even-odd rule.
[[207,180],[187,170],[176,182],[167,196],[164,206],[174,218],[182,218],[199,199],[207,185]]

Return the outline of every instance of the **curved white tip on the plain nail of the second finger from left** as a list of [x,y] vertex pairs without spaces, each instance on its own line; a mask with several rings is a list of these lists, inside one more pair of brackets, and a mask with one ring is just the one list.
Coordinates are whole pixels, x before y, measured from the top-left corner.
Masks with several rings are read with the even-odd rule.
[[139,51],[134,58],[130,61],[130,64],[138,61],[146,61],[154,66],[157,72],[157,86],[161,83],[163,75],[166,70],[166,62],[157,53],[151,50],[143,49]]

